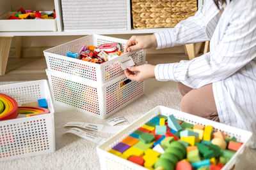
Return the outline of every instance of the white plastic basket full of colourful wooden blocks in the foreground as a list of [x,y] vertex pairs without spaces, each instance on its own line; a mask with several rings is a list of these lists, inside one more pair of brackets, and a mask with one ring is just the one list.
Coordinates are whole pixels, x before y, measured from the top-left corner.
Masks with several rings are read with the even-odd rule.
[[97,153],[99,155],[101,169],[146,169],[145,167],[134,164],[129,160],[125,160],[121,157],[113,155],[112,153],[109,153],[108,150],[113,148],[113,146],[115,146],[117,143],[120,143],[122,139],[129,136],[129,134],[136,131],[136,129],[138,129],[159,114],[165,116],[173,114],[175,118],[184,120],[184,122],[188,122],[189,124],[212,125],[213,131],[223,131],[229,138],[233,136],[236,137],[238,141],[243,143],[243,145],[222,169],[231,169],[235,164],[235,169],[243,169],[241,168],[241,165],[243,164],[243,159],[245,158],[245,150],[246,148],[248,148],[249,139],[252,136],[252,132],[220,124],[206,118],[196,117],[194,115],[190,115],[182,111],[173,110],[171,108],[166,108],[164,106],[157,106],[156,108],[149,111],[147,114],[138,118],[138,120],[129,125],[129,127],[125,128],[123,131],[108,139],[108,141],[104,142],[102,145],[97,146]]

